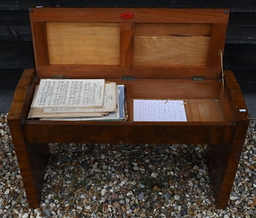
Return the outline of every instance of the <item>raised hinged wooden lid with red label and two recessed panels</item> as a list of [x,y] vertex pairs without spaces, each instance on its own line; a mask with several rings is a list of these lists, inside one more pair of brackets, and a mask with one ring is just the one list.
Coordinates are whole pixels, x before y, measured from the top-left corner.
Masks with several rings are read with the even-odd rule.
[[30,8],[40,78],[220,78],[228,9]]

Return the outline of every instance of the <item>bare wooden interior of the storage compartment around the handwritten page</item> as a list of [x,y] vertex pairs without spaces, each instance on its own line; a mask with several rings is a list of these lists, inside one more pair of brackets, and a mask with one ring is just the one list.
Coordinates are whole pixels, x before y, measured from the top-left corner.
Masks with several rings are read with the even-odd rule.
[[[37,80],[35,84],[39,84],[39,81]],[[183,100],[187,122],[234,121],[232,114],[225,109],[231,107],[229,102],[227,101],[223,104],[223,87],[220,80],[136,79],[134,81],[125,81],[121,79],[106,79],[106,81],[126,85],[127,121],[130,122],[133,122],[133,100],[167,100],[169,98],[170,100]],[[161,123],[159,122],[159,125]]]

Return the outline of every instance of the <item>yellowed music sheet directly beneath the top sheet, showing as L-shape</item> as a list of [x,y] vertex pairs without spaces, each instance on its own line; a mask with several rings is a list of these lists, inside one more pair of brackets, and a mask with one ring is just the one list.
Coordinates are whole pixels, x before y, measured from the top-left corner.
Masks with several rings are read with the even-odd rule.
[[44,113],[105,112],[116,110],[116,83],[106,83],[102,108],[55,107],[45,108]]

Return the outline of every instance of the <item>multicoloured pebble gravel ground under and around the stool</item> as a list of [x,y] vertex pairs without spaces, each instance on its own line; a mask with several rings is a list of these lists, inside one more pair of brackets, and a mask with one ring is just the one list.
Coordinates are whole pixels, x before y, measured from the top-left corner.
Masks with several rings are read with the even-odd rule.
[[40,208],[30,209],[0,117],[0,217],[255,217],[256,121],[230,201],[216,210],[206,145],[50,144]]

